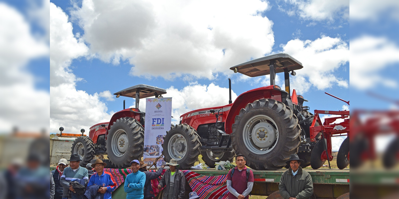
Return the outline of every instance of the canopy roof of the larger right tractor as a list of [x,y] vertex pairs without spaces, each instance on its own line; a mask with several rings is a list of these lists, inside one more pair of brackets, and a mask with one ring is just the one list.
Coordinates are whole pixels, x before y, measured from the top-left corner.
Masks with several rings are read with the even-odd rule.
[[268,75],[270,74],[269,64],[271,60],[276,61],[275,64],[276,73],[284,72],[284,68],[286,68],[288,71],[298,70],[303,68],[302,63],[299,62],[298,60],[294,59],[288,54],[279,53],[247,61],[245,63],[238,64],[237,66],[233,66],[230,69],[234,70],[234,72],[239,72],[241,74],[245,74],[250,77]]

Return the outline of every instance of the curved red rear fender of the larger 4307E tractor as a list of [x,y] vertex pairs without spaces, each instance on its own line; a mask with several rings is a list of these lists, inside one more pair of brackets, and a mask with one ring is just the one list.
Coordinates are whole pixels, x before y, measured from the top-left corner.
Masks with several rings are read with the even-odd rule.
[[248,103],[252,103],[255,100],[260,99],[273,99],[277,101],[282,101],[281,97],[282,91],[275,88],[274,86],[265,86],[253,90],[249,90],[239,95],[237,99],[231,105],[229,114],[227,115],[225,121],[225,131],[227,134],[231,133],[231,125],[234,124],[235,116],[240,113]]

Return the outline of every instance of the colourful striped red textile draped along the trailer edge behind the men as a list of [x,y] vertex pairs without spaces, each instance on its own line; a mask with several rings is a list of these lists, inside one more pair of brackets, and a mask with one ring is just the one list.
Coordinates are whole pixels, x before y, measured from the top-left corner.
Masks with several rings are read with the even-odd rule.
[[[106,172],[111,173],[112,180],[119,187],[124,182],[126,176],[132,173],[130,169],[104,169]],[[151,172],[156,172],[156,170],[150,170]],[[164,170],[162,175],[166,172]],[[203,176],[192,172],[190,170],[182,170],[186,180],[190,185],[191,189],[197,192],[200,199],[227,199],[229,191],[226,187],[227,175],[222,176]],[[152,189],[154,190],[154,195],[157,195],[162,189],[158,189],[158,184],[160,177],[151,180]]]

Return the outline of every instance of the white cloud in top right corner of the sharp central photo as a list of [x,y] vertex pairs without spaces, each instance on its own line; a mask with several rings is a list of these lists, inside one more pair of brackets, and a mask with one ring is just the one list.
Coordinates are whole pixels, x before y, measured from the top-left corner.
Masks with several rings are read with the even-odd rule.
[[[337,18],[349,18],[349,0],[286,0],[294,6],[294,10],[304,20],[334,21]],[[294,15],[294,10],[285,11],[289,16]]]

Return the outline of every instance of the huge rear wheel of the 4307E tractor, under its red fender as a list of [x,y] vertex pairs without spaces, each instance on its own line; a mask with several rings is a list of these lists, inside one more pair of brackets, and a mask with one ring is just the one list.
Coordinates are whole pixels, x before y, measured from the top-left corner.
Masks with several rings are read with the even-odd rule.
[[300,127],[284,103],[262,99],[240,110],[232,125],[231,144],[255,170],[277,170],[298,152]]

